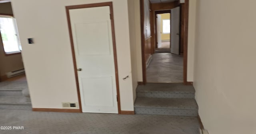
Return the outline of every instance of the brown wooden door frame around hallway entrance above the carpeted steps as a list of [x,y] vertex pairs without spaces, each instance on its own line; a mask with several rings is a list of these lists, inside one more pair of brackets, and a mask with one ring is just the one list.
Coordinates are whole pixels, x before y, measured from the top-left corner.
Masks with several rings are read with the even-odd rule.
[[[182,16],[180,19],[183,19],[184,25],[180,25],[181,33],[180,39],[183,41],[183,83],[184,85],[192,85],[193,82],[187,81],[187,68],[188,68],[188,7],[189,7],[189,0],[185,0],[185,3],[179,4],[181,9],[183,9],[182,12],[184,12],[184,16]],[[164,8],[164,7],[162,7]],[[153,18],[151,18],[153,19]],[[152,21],[151,21],[152,22]],[[146,84],[146,61],[144,58],[145,54],[145,41],[144,41],[144,0],[140,0],[140,27],[141,27],[141,51],[142,51],[142,84]],[[153,29],[151,29],[153,31]],[[151,33],[152,34],[152,33]],[[151,47],[152,48],[152,47]],[[153,47],[154,48],[154,47]]]

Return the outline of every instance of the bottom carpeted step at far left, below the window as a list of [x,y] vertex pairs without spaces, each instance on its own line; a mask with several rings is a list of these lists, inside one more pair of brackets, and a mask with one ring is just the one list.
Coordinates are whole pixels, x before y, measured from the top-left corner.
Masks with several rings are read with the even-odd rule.
[[0,96],[0,109],[31,110],[31,102],[25,96]]

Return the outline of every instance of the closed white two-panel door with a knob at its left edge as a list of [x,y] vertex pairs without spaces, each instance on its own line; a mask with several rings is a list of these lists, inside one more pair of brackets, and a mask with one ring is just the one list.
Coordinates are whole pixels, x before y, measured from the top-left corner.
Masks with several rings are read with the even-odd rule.
[[110,8],[69,13],[82,112],[118,113]]

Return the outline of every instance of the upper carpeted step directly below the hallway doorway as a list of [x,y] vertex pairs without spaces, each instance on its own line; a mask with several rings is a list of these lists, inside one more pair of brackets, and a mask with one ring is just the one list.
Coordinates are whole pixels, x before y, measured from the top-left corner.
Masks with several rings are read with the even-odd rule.
[[151,98],[189,98],[195,96],[195,89],[192,85],[182,83],[148,83],[138,85],[137,97]]

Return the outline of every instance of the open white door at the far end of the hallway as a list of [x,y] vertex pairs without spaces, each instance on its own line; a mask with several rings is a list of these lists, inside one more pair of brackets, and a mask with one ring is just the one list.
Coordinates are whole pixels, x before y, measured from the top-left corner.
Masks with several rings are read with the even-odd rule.
[[171,53],[180,54],[180,7],[171,10]]

